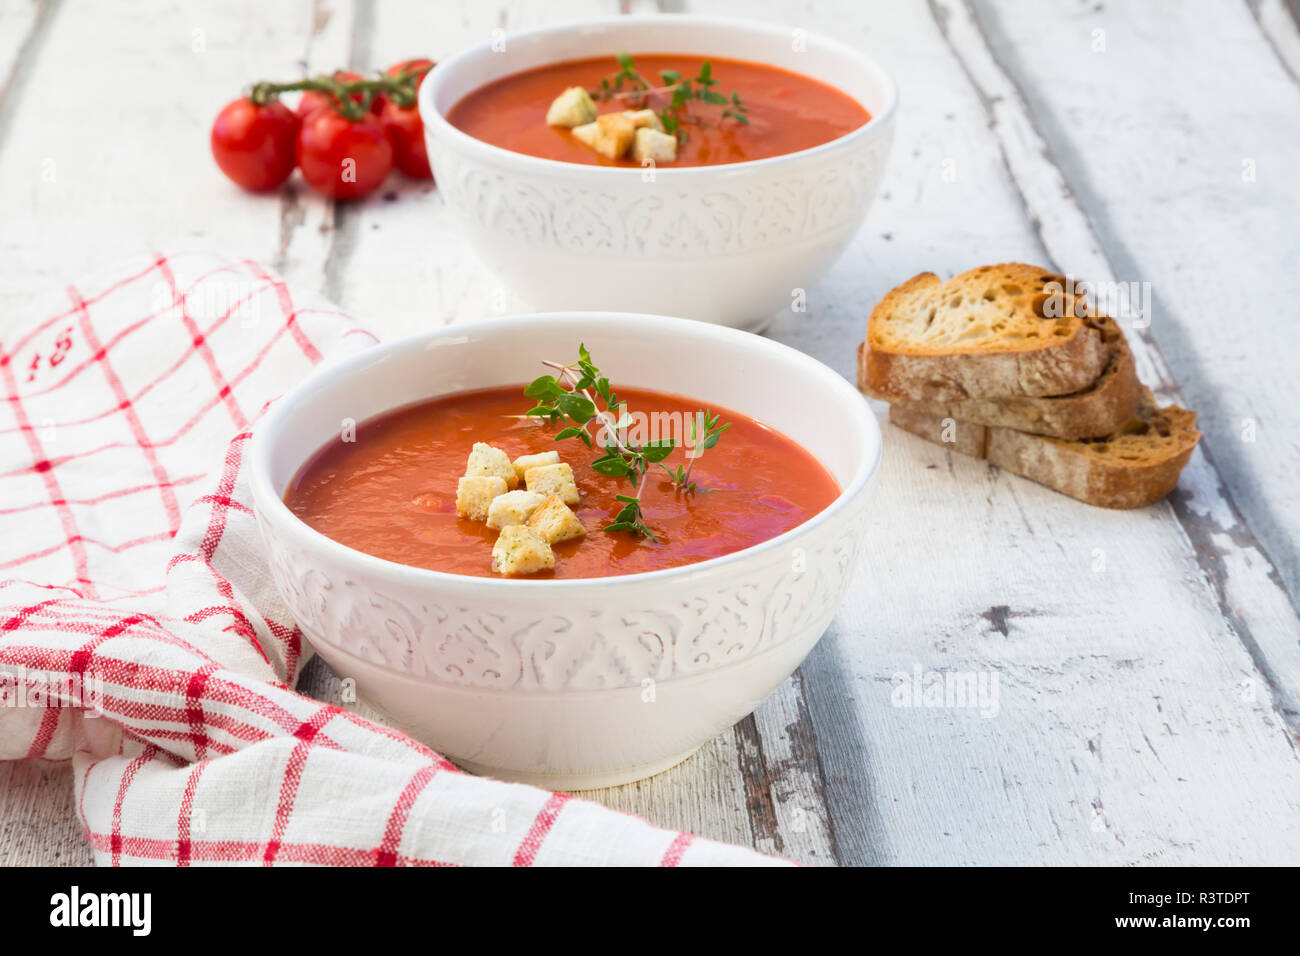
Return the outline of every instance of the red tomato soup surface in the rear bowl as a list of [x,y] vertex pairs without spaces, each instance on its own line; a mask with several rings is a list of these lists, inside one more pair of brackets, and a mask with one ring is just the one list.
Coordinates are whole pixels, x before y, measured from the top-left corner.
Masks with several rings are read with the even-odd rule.
[[[673,53],[637,53],[633,60],[637,72],[649,82],[658,82],[660,70],[696,77],[703,62],[699,56]],[[837,139],[871,118],[855,99],[810,77],[746,60],[708,57],[708,62],[718,81],[714,90],[725,96],[738,92],[749,108],[749,125],[722,118],[722,107],[692,103],[690,113],[699,122],[682,124],[686,140],[679,144],[672,166],[712,166],[784,156]],[[567,129],[546,125],[546,109],[564,90],[582,86],[594,95],[601,78],[616,70],[615,59],[606,56],[514,73],[467,95],[450,109],[447,121],[474,139],[529,156],[634,166],[637,163],[632,159],[604,159],[576,140]],[[659,111],[667,103],[658,96],[649,105]],[[602,113],[628,108],[629,104],[619,99],[597,99],[597,109]]]

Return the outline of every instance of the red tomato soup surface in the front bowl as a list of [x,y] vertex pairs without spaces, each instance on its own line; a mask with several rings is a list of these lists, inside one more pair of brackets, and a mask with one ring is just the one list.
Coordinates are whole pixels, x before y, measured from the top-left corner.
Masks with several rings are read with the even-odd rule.
[[[592,471],[595,453],[580,441],[556,442],[560,425],[520,423],[517,416],[530,407],[523,388],[464,392],[364,421],[355,441],[333,441],[302,467],[286,503],[316,531],[359,551],[434,571],[499,576],[491,570],[498,532],[456,515],[456,480],[471,446],[484,441],[511,459],[555,450],[573,468],[582,496],[573,510],[588,533],[556,544],[555,570],[530,578],[606,578],[738,551],[802,524],[840,494],[835,479],[796,442],[754,419],[714,408],[733,424],[692,471],[710,490],[677,493],[655,468],[642,507],[659,540],[602,531],[623,507],[614,496],[629,494],[630,485]],[[645,389],[619,389],[619,395],[632,412],[688,416],[701,407]],[[679,447],[664,464],[685,460]]]

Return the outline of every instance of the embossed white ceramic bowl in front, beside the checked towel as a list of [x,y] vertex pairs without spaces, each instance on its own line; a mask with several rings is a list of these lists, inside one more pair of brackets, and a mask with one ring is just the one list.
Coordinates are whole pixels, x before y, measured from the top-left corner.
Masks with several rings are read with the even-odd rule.
[[[842,493],[754,548],[586,580],[407,567],[332,541],[285,506],[298,468],[344,419],[530,381],[541,358],[567,358],[578,342],[615,386],[766,421]],[[853,386],[786,346],[682,319],[571,312],[452,325],[322,368],[276,403],[250,454],[272,575],[335,672],[469,770],[581,790],[666,770],[798,666],[853,572],[880,431]]]

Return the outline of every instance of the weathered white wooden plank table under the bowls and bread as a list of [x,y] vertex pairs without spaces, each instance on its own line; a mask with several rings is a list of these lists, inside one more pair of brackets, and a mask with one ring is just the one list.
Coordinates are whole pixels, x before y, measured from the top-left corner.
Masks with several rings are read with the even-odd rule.
[[[867,554],[801,671],[682,766],[592,796],[807,862],[1300,862],[1295,0],[684,7],[835,35],[902,88],[866,228],[768,334],[852,377],[871,304],[920,271],[1150,282],[1141,375],[1205,437],[1167,502],[1112,514],[883,424]],[[152,247],[259,258],[387,337],[526,307],[436,189],[244,195],[208,127],[255,78],[646,9],[0,0],[0,333]],[[918,669],[996,680],[996,708],[898,706]],[[66,767],[0,765],[0,864],[88,860]]]

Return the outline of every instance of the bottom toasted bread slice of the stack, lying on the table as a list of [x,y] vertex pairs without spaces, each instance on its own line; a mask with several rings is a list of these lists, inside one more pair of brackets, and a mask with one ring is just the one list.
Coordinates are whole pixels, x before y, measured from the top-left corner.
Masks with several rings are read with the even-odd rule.
[[1196,412],[1176,405],[1161,408],[1147,388],[1136,415],[1104,438],[1063,441],[1013,428],[945,421],[907,405],[890,406],[889,420],[1071,498],[1114,509],[1143,507],[1174,490],[1201,437]]

